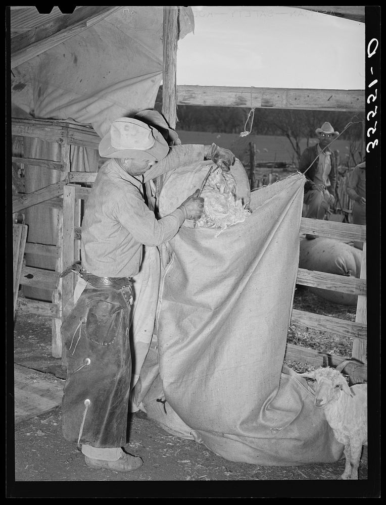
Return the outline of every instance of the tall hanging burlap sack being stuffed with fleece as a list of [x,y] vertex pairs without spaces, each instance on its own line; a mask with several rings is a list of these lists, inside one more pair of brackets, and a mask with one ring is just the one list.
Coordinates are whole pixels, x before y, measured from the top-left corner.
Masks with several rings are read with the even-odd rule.
[[[188,192],[197,185],[189,180]],[[186,222],[163,261],[157,335],[134,396],[166,431],[228,460],[285,466],[342,456],[313,390],[283,368],[304,181],[295,174],[253,191],[252,214],[220,234]],[[168,183],[172,174],[161,200]]]

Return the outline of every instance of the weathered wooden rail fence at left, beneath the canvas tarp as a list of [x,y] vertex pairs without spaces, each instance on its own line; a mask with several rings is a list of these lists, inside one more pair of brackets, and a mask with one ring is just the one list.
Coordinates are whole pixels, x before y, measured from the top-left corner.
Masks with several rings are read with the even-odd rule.
[[[100,137],[93,128],[63,121],[52,121],[42,119],[16,119],[12,120],[13,145],[19,147],[24,145],[25,137],[32,137],[46,142],[55,142],[61,145],[61,160],[41,160],[26,158],[22,156],[12,156],[12,164],[19,169],[28,170],[29,166],[39,166],[60,173],[61,180],[38,189],[28,194],[13,195],[13,216],[16,219],[22,214],[23,209],[31,206],[48,206],[58,210],[58,222],[56,227],[56,244],[46,245],[41,243],[27,242],[25,253],[39,255],[46,258],[55,258],[55,271],[43,268],[22,267],[20,275],[20,285],[32,288],[43,288],[52,291],[52,301],[40,301],[18,297],[17,311],[38,314],[52,319],[52,355],[54,358],[61,358],[62,335],[60,327],[62,324],[63,307],[72,296],[73,284],[71,279],[59,277],[63,270],[63,265],[67,265],[69,258],[76,258],[77,249],[71,247],[71,239],[67,234],[71,232],[73,226],[68,222],[68,216],[76,212],[80,219],[80,208],[76,211],[68,209],[68,201],[64,198],[68,174],[70,173],[70,148],[72,145],[98,149]],[[22,152],[22,149],[21,149]],[[14,154],[14,153],[13,153]],[[13,172],[17,172],[16,170]],[[13,174],[14,175],[14,174]],[[17,181],[16,181],[17,182]],[[22,184],[17,186],[21,187]],[[67,237],[69,239],[67,239]]]

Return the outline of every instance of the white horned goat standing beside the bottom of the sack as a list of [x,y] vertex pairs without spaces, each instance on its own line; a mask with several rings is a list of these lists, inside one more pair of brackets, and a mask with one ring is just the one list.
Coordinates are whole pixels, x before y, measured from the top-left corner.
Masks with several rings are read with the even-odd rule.
[[349,387],[334,368],[299,374],[316,380],[315,406],[323,409],[337,441],[345,445],[345,471],[340,479],[358,479],[362,446],[367,444],[367,384]]

